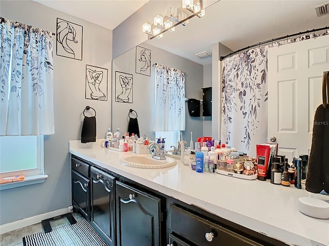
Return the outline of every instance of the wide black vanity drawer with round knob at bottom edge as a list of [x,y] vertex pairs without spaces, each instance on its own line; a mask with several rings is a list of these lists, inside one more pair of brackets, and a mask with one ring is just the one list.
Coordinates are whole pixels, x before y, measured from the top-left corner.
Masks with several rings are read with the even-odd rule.
[[187,240],[202,246],[262,245],[173,204],[170,204],[170,229]]

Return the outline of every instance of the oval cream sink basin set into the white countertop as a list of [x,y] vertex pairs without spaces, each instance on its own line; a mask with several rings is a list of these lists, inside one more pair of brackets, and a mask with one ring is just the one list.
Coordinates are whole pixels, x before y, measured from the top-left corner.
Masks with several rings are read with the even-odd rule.
[[132,155],[120,159],[120,163],[134,168],[169,168],[176,165],[176,160],[166,156],[166,160],[157,160],[152,155]]

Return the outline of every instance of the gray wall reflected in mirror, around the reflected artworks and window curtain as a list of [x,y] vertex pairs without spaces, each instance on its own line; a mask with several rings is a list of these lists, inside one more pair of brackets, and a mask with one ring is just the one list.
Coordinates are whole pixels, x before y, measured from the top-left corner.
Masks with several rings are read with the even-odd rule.
[[[203,66],[194,63],[186,58],[174,55],[168,51],[161,50],[148,44],[141,44],[143,48],[151,50],[151,65],[154,63],[166,65],[186,72],[185,95],[187,98],[202,98],[203,87]],[[148,134],[155,138],[153,132],[153,119],[155,112],[155,68],[151,67],[151,76],[135,73],[136,48],[113,59],[113,81],[115,81],[115,71],[133,74],[133,103],[118,103],[113,94],[113,131],[120,128],[122,133],[127,132],[129,109],[134,109],[138,113],[138,124],[141,136]],[[113,85],[113,93],[115,86]],[[193,132],[193,141],[197,136],[203,136],[202,117],[191,117],[188,113],[186,102],[186,130],[183,132],[183,139],[190,142]]]

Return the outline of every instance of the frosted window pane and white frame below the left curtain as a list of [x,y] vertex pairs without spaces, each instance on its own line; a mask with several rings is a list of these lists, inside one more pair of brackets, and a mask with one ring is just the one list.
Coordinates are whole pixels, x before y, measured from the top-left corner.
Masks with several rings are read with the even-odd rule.
[[43,174],[43,135],[1,136],[0,177]]

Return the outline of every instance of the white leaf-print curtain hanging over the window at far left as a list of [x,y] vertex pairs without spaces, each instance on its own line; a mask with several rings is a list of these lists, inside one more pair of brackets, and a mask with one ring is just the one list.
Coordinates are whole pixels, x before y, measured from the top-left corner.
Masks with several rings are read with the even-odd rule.
[[1,18],[0,135],[54,133],[52,33]]

